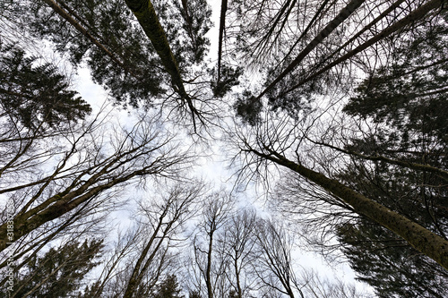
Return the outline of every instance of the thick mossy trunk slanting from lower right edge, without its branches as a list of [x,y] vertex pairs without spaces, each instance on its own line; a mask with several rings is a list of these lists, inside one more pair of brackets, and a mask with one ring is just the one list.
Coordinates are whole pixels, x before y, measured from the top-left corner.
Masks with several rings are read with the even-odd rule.
[[395,211],[384,207],[375,202],[375,200],[366,198],[337,180],[330,179],[305,166],[298,165],[280,154],[271,152],[271,155],[266,155],[258,151],[253,152],[280,166],[286,166],[297,174],[316,183],[324,190],[331,192],[334,196],[340,198],[340,200],[348,203],[357,213],[371,218],[381,226],[400,235],[416,250],[426,254],[426,256],[435,260],[442,267],[448,269],[448,241],[441,236],[427,230],[423,226],[419,226],[407,217],[403,217]]

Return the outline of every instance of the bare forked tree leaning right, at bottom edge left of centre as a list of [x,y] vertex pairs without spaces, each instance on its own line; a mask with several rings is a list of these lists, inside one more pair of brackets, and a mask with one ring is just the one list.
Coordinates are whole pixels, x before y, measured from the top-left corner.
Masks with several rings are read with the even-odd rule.
[[[141,234],[142,250],[133,264],[124,297],[144,297],[153,290],[172,258],[169,250],[180,241],[185,222],[194,216],[202,200],[204,184],[177,184],[167,194],[142,201],[145,219]],[[172,273],[172,272],[170,272]]]

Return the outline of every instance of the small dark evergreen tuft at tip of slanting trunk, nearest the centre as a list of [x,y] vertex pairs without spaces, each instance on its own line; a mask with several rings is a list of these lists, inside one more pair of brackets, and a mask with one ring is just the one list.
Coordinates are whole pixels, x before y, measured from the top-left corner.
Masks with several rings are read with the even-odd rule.
[[242,96],[237,98],[233,107],[243,123],[254,126],[261,121],[260,113],[263,104],[250,91],[244,91]]

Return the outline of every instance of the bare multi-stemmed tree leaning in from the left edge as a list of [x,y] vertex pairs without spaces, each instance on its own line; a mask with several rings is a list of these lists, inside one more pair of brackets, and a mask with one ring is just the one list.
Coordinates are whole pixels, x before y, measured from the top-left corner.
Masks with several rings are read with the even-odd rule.
[[[1,192],[9,200],[7,211],[13,217],[14,231],[8,241],[6,226],[10,218],[5,217],[5,209],[2,251],[6,243],[84,204],[100,206],[100,200],[115,200],[110,195],[120,186],[151,175],[175,176],[178,166],[188,160],[177,148],[175,136],[160,131],[155,117],[142,117],[131,129],[110,127],[103,120],[98,117],[81,126],[69,126],[56,137],[55,133],[44,139],[32,134],[25,138],[21,134],[7,136],[6,140],[11,140],[8,143],[21,150],[20,155],[4,160]],[[42,174],[28,175],[36,169]]]

